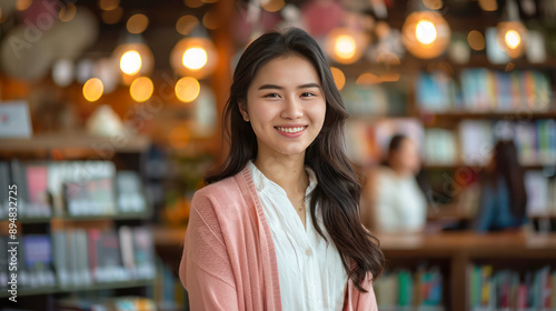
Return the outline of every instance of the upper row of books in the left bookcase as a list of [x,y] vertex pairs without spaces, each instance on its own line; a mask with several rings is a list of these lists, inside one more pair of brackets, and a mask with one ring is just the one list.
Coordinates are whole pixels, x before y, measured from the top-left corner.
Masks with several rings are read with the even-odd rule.
[[[17,187],[16,193],[7,191]],[[140,177],[111,161],[0,162],[0,219],[113,215],[147,211]]]

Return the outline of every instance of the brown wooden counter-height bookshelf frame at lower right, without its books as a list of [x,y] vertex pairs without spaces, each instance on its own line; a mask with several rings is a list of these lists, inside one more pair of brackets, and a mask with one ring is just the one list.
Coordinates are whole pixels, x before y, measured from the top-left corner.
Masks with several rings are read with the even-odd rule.
[[[444,310],[470,310],[468,271],[475,263],[495,263],[495,269],[546,265],[556,269],[556,234],[455,232],[434,235],[379,235],[391,268],[426,261],[444,273]],[[498,263],[496,265],[496,263]],[[554,289],[553,295],[556,295]],[[380,299],[380,298],[378,298]]]

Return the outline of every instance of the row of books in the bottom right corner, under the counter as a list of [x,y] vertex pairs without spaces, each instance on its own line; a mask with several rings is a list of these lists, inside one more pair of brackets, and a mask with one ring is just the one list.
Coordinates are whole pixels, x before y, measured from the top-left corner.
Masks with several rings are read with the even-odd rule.
[[468,278],[473,311],[556,310],[556,271],[549,267],[518,272],[471,265]]

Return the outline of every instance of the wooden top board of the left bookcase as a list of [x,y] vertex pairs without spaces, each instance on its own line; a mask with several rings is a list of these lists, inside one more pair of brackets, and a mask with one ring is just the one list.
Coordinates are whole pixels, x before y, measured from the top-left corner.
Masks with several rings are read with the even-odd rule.
[[82,132],[39,134],[30,139],[0,139],[0,151],[32,152],[44,150],[99,150],[141,152],[150,144],[147,137],[97,137]]

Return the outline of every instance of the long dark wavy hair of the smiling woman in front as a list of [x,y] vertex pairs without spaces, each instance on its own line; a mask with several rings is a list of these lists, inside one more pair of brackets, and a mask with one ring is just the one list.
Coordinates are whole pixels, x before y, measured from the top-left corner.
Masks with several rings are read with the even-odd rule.
[[[305,153],[305,164],[315,171],[318,181],[311,192],[311,220],[317,232],[328,242],[316,219],[318,204],[325,228],[340,253],[344,268],[355,287],[366,292],[360,283],[369,271],[374,279],[381,274],[384,254],[378,239],[363,227],[359,218],[361,177],[354,170],[345,151],[344,123],[348,114],[325,54],[315,39],[304,30],[291,28],[284,33],[262,34],[241,54],[222,116],[225,138],[230,151],[226,161],[209,173],[205,182],[208,184],[235,175],[249,160],[257,157],[257,138],[250,123],[241,118],[239,104],[247,102],[247,89],[257,71],[269,61],[287,56],[301,57],[315,67],[326,98],[322,129]],[[348,259],[355,261],[355,269],[349,267]]]

